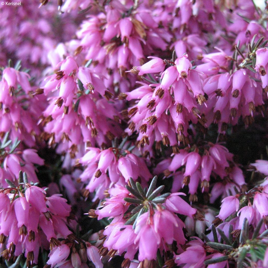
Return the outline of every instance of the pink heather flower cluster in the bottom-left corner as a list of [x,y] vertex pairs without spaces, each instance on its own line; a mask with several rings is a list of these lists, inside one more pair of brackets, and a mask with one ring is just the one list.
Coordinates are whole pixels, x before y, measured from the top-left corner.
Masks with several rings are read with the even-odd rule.
[[[1,197],[5,207],[9,208],[1,211],[1,243],[7,240],[6,249],[2,252],[5,259],[25,252],[27,265],[30,266],[38,262],[39,248],[46,248],[44,237],[52,250],[60,245],[58,238],[66,238],[71,234],[66,225],[71,209],[59,195],[46,197],[42,188],[24,183],[23,192],[20,187],[4,188]],[[63,245],[55,248],[50,253],[49,264],[54,266],[66,259],[70,252],[66,249]]]

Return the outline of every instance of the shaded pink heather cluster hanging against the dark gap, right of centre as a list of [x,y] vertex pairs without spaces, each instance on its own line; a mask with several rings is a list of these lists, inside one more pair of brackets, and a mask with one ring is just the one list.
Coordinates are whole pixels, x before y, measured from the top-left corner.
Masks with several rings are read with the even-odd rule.
[[233,162],[233,155],[224,146],[213,143],[181,149],[172,155],[170,161],[160,162],[155,173],[173,177],[172,192],[188,185],[191,202],[197,201],[199,185],[202,192],[206,192],[217,176],[222,181],[213,184],[211,203],[219,196],[229,195],[229,190],[234,192],[233,186],[241,188],[245,185],[243,172]]

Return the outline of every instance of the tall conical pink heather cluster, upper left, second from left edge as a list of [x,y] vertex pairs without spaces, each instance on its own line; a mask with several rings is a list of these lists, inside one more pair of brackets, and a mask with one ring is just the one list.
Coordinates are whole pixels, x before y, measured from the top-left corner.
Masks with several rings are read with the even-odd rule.
[[112,94],[106,90],[102,75],[79,67],[72,57],[59,66],[60,70],[43,84],[44,94],[49,94],[49,105],[39,123],[44,125],[43,137],[50,145],[61,143],[58,151],[68,151],[74,158],[85,143],[101,146],[117,136],[120,129],[112,126],[119,122],[119,117],[106,101]]

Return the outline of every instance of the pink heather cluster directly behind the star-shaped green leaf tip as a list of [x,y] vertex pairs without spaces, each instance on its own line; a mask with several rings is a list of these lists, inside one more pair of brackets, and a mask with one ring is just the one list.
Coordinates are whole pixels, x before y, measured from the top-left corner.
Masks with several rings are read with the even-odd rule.
[[[124,143],[125,141],[126,139]],[[103,191],[111,188],[113,184],[124,185],[129,178],[137,180],[138,177],[142,182],[146,182],[151,177],[144,159],[120,146],[106,150],[89,147],[79,162],[86,166],[80,175],[81,180],[89,181],[86,189],[90,192],[102,189],[97,195],[99,198],[103,198]]]

